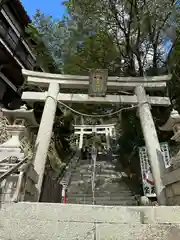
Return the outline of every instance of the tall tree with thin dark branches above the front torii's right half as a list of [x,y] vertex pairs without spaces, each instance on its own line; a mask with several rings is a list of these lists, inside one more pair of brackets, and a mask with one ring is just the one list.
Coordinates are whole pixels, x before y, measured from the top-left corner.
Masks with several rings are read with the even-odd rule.
[[[124,75],[143,75],[151,67],[158,74],[164,52],[162,41],[169,29],[175,1],[67,1],[71,20],[81,40],[103,31],[116,47],[114,65]],[[116,55],[116,56],[117,56]]]

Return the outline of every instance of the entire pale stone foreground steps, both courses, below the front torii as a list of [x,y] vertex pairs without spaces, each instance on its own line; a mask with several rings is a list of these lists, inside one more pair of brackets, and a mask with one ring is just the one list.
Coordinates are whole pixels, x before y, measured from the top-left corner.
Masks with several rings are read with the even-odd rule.
[[180,207],[11,203],[1,240],[179,240]]

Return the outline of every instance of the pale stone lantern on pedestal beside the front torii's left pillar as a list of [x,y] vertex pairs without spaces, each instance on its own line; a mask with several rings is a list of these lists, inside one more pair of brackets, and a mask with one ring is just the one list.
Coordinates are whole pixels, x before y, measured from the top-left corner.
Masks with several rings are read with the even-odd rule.
[[[23,161],[25,151],[21,147],[20,137],[25,135],[26,127],[38,127],[38,123],[35,120],[33,110],[27,110],[25,105],[17,110],[2,108],[1,111],[3,116],[8,119],[9,125],[6,126],[6,131],[10,135],[10,138],[0,145],[0,175],[3,175]],[[27,166],[25,167],[25,165]],[[0,201],[11,202],[24,200],[25,195],[24,192],[22,192],[22,186],[23,181],[26,179],[25,172],[27,168],[29,169],[28,179],[30,179],[28,181],[33,182],[33,184],[36,183],[37,174],[35,174],[33,166],[30,166],[29,163],[25,165],[21,165],[14,174],[10,174],[5,180],[0,182],[2,192]],[[35,178],[36,180],[34,180]],[[32,190],[32,188],[29,189],[29,191]]]

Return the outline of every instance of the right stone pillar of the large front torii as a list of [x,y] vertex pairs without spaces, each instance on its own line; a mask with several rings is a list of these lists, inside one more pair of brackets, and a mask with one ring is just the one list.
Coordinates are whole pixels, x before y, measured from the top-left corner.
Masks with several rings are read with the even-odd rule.
[[161,176],[163,173],[161,148],[153,121],[153,117],[148,103],[148,98],[144,87],[137,86],[135,88],[139,106],[139,118],[144,135],[145,144],[149,156],[153,178],[155,181],[156,195],[159,205],[166,205],[165,186],[163,185]]

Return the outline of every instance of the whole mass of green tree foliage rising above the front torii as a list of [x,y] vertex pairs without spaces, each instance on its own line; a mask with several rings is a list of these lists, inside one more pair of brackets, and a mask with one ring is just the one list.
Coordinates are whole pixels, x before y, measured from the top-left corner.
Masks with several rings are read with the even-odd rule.
[[163,39],[175,0],[65,1],[68,15],[53,20],[37,11],[33,23],[64,73],[108,68],[112,75],[158,74]]

